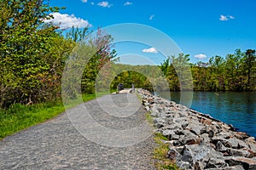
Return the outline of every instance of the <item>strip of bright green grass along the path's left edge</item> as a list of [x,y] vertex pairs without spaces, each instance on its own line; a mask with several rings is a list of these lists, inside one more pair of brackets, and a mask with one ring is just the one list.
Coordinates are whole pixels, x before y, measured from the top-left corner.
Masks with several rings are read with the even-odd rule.
[[[101,93],[97,94],[97,96],[104,94],[109,93]],[[84,102],[95,98],[96,94],[82,95]],[[79,105],[79,102],[76,101],[71,105],[67,105],[66,109],[75,105]],[[52,119],[63,111],[65,111],[65,108],[61,101],[46,102],[36,105],[15,104],[9,107],[9,109],[0,110],[0,139],[27,127],[32,127],[33,125]]]

